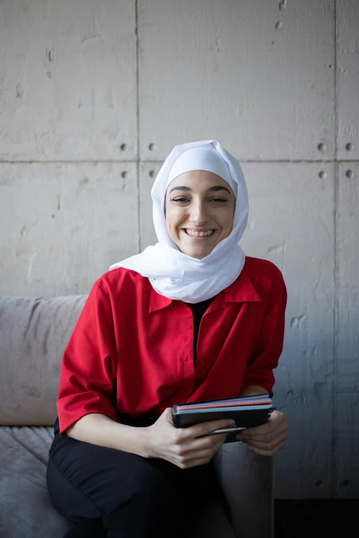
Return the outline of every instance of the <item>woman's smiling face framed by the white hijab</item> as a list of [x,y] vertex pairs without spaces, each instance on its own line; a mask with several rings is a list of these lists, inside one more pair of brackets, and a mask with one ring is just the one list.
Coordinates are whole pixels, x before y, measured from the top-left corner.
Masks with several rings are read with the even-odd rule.
[[193,170],[168,185],[166,228],[184,254],[204,258],[229,236],[235,214],[235,194],[213,172]]

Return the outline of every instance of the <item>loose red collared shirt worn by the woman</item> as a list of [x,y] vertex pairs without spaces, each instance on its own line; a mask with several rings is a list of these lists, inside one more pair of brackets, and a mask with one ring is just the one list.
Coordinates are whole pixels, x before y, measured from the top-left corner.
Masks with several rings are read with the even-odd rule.
[[259,385],[272,392],[283,348],[287,293],[281,271],[246,258],[199,325],[193,361],[193,314],[129,269],[101,276],[89,293],[61,365],[61,434],[82,416],[116,411],[159,416],[175,403],[237,396]]

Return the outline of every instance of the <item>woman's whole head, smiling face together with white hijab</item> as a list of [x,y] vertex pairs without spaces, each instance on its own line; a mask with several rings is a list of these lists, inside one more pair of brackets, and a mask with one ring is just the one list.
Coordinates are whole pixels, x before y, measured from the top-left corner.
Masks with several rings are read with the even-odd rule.
[[[170,196],[180,186],[186,187],[182,196],[175,191]],[[212,188],[217,196],[208,191]],[[175,146],[151,195],[158,243],[110,269],[138,271],[157,293],[188,304],[212,298],[235,282],[246,260],[238,243],[248,220],[246,181],[238,161],[217,140]],[[204,230],[213,230],[213,236],[193,239],[193,233]]]

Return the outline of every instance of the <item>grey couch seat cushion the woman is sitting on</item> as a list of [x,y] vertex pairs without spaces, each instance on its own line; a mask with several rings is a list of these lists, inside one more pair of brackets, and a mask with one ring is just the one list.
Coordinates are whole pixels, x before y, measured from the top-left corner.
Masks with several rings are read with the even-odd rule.
[[[58,514],[46,485],[52,427],[0,427],[0,536],[62,538],[72,523]],[[223,508],[213,503],[188,538],[235,538]]]

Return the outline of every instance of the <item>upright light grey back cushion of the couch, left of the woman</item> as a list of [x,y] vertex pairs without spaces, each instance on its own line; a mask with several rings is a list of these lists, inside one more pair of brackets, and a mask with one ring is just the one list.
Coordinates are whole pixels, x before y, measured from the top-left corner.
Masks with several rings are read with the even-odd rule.
[[63,351],[86,298],[0,297],[0,425],[54,424]]

